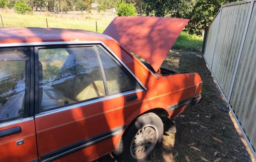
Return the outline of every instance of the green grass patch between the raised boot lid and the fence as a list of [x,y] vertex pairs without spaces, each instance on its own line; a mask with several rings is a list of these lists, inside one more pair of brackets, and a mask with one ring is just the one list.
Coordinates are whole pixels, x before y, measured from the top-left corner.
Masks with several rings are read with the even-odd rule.
[[202,42],[203,37],[190,35],[187,32],[182,32],[174,43],[172,49],[202,51]]

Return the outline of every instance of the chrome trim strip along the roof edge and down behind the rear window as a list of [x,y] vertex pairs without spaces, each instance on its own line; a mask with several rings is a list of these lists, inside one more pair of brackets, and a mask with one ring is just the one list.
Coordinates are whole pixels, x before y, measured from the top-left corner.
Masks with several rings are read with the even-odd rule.
[[121,61],[116,54],[109,49],[109,47],[104,44],[102,41],[69,41],[69,42],[28,42],[28,43],[10,43],[10,44],[0,44],[0,47],[19,47],[19,46],[47,46],[47,45],[78,45],[78,44],[101,44],[102,47],[105,47],[107,51],[116,59],[120,64],[125,67],[125,69],[133,76],[133,78],[140,84],[140,86],[147,90],[147,88],[140,82],[140,80],[133,74],[130,69]]

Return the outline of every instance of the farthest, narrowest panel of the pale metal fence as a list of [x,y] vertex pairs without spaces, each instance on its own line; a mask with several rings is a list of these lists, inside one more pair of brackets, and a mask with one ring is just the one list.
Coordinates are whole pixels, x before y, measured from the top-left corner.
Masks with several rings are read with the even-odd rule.
[[218,12],[215,19],[211,23],[208,29],[207,39],[206,39],[206,47],[204,52],[204,57],[211,68],[211,64],[213,62],[213,52],[217,39],[218,27],[220,22],[221,11]]

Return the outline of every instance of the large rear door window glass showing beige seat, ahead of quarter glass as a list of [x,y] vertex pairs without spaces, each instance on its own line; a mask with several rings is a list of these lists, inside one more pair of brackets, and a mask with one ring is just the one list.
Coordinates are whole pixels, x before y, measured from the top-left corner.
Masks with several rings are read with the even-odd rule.
[[39,111],[106,95],[93,47],[39,49]]

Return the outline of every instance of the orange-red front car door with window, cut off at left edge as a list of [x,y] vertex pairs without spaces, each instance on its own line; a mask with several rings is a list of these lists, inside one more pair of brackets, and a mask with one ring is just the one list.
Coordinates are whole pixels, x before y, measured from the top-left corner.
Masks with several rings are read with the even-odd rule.
[[0,48],[1,162],[38,160],[33,105],[29,104],[33,100],[31,53],[29,47]]

